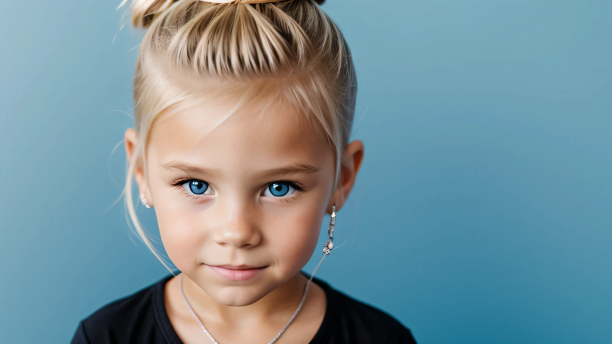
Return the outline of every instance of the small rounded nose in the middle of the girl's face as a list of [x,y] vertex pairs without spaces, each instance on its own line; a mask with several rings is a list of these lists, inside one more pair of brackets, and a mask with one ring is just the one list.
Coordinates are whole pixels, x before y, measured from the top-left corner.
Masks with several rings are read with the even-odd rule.
[[212,239],[217,244],[236,249],[249,249],[261,244],[255,210],[248,206],[248,202],[228,201],[224,208],[225,220],[212,233]]

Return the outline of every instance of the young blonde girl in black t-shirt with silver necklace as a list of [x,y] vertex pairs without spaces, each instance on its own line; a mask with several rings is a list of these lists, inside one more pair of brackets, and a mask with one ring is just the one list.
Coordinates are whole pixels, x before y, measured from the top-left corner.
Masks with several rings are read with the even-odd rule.
[[[353,61],[321,2],[133,2],[148,29],[126,204],[168,267],[136,218],[135,179],[181,273],[101,308],[72,343],[414,343],[391,316],[300,272],[332,252],[364,157],[348,141]],[[329,241],[315,250],[325,214]]]

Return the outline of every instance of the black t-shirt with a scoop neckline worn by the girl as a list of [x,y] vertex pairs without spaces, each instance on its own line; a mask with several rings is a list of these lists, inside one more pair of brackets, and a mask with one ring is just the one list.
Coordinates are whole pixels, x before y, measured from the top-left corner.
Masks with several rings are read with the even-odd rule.
[[[81,321],[72,344],[182,344],[164,302],[164,288],[171,277],[97,310]],[[313,282],[325,291],[327,310],[310,344],[416,344],[411,332],[390,315],[321,280]],[[208,342],[202,335],[202,343]]]

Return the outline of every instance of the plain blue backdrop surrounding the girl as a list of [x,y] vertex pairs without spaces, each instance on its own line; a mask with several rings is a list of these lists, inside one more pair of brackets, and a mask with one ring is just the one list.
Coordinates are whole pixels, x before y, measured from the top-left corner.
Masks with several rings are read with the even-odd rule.
[[[113,206],[142,34],[118,2],[2,3],[2,343],[67,343],[166,274]],[[421,344],[610,343],[612,2],[323,8],[367,154],[318,276]]]

